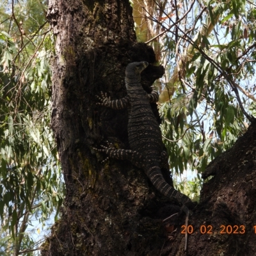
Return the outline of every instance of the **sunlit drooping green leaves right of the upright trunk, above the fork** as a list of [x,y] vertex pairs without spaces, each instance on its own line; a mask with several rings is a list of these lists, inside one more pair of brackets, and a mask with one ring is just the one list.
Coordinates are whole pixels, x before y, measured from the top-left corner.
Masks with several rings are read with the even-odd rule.
[[[154,1],[158,8],[148,15],[153,28],[166,31],[155,39],[164,42],[160,62],[170,75],[162,83],[172,95],[159,108],[161,129],[173,172],[200,173],[234,145],[246,131],[250,115],[255,115],[255,4],[164,3]],[[178,19],[177,26],[170,26]]]

